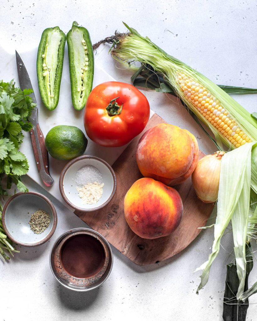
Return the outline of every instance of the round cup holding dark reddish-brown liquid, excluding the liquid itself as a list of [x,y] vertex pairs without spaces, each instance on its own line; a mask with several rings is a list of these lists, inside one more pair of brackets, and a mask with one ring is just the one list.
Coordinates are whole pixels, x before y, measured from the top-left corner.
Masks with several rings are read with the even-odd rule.
[[[89,278],[76,278],[67,273],[62,265],[63,245],[67,240],[78,235],[88,235],[97,239],[104,251],[104,262],[101,270]],[[109,243],[100,233],[86,228],[77,228],[69,230],[58,237],[50,251],[49,260],[51,271],[61,285],[74,291],[90,291],[98,288],[110,275],[113,264],[113,255]]]

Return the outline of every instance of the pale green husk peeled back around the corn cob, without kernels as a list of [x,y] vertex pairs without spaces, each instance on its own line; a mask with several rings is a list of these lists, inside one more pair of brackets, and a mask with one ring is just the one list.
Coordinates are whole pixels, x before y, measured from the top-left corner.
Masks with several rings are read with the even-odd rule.
[[[216,145],[221,150],[224,150],[224,145],[229,150],[232,150],[226,153],[221,160],[217,203],[218,213],[214,228],[215,240],[208,261],[199,268],[203,269],[203,272],[197,292],[208,281],[211,264],[219,252],[220,239],[227,225],[232,220],[236,267],[239,279],[237,299],[247,299],[249,296],[243,293],[247,265],[245,244],[248,237],[255,237],[255,222],[257,221],[256,202],[253,202],[257,198],[256,115],[255,113],[251,115],[225,92],[242,94],[244,91],[242,88],[237,90],[234,87],[220,88],[190,66],[165,53],[149,38],[144,38],[136,30],[129,28],[126,24],[125,26],[130,32],[127,35],[123,34],[118,41],[115,41],[111,48],[111,54],[114,59],[123,65],[131,67],[134,62],[141,63],[141,68],[132,68],[136,70],[136,74],[132,77],[132,82],[137,85],[146,83],[147,87],[150,84],[151,89],[157,88],[156,91],[175,93],[182,100],[183,104],[213,132]],[[138,77],[139,74],[144,79],[140,79]],[[155,74],[155,76],[152,74]],[[215,97],[218,104],[225,108],[230,117],[236,121],[244,133],[250,137],[252,142],[245,143],[235,149],[235,146],[185,98],[178,81],[182,74],[185,74],[190,81],[193,80],[206,88]],[[245,92],[255,93],[256,90],[246,89]],[[247,293],[250,293],[249,291],[257,291],[257,285],[253,287]]]

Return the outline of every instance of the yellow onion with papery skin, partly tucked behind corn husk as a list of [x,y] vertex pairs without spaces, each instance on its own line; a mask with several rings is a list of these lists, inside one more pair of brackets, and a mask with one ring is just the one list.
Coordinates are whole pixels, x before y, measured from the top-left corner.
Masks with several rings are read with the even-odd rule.
[[204,203],[216,202],[219,190],[221,158],[225,152],[215,152],[201,158],[192,174],[197,197]]

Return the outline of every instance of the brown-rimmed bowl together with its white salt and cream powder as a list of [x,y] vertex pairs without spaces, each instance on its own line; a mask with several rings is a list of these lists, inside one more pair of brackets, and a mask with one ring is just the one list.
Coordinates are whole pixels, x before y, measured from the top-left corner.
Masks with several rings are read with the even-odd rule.
[[99,157],[79,156],[64,167],[59,179],[63,199],[77,211],[96,211],[114,196],[117,180],[111,166]]

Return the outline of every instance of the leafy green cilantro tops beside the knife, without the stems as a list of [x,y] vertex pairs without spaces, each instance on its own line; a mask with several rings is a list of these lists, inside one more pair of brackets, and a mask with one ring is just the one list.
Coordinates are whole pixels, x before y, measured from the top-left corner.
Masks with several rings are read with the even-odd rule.
[[[0,195],[7,195],[12,184],[26,192],[21,176],[29,170],[26,156],[19,151],[25,132],[32,128],[28,120],[35,107],[29,96],[32,89],[15,88],[15,82],[0,81]],[[7,177],[6,183],[3,178]]]

